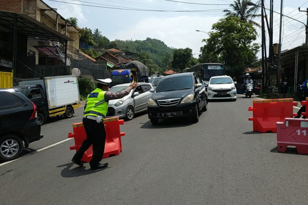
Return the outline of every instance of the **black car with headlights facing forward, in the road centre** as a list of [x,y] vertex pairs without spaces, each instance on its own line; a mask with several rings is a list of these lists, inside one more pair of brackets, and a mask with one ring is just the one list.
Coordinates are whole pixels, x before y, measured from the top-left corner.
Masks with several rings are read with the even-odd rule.
[[199,121],[199,112],[207,110],[207,97],[201,76],[196,72],[163,77],[148,101],[152,125],[159,119],[189,117]]

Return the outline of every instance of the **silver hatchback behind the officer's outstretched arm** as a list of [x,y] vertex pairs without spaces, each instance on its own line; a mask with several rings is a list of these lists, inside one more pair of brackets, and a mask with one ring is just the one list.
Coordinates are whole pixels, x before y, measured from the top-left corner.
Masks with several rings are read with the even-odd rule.
[[[121,92],[130,84],[121,84],[113,86],[109,91]],[[147,110],[148,99],[152,95],[150,89],[153,89],[150,83],[138,83],[138,87],[130,91],[130,93],[121,99],[109,100],[107,117],[119,116],[131,120],[135,113]]]

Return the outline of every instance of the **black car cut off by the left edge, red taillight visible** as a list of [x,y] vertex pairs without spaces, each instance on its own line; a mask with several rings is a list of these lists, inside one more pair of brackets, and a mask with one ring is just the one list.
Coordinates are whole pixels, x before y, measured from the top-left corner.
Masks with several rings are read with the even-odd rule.
[[10,161],[43,135],[30,99],[13,88],[0,89],[0,99],[0,161]]

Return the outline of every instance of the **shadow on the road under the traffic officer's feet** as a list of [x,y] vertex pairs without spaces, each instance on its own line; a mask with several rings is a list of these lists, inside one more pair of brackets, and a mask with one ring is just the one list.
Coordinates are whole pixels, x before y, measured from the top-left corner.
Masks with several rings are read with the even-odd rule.
[[[73,166],[74,168],[71,169]],[[61,176],[65,178],[84,176],[84,175],[93,174],[95,172],[100,172],[100,171],[110,168],[110,167],[107,167],[105,169],[100,169],[100,170],[90,170],[90,169],[86,169],[85,166],[78,167],[73,162],[66,163],[64,165],[60,165],[57,167],[59,168],[64,167],[64,169],[61,171]]]

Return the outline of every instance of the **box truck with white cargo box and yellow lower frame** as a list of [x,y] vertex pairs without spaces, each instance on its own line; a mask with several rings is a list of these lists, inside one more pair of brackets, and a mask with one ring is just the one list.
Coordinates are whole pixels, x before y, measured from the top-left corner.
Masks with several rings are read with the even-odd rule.
[[41,125],[53,116],[70,118],[74,110],[80,107],[78,79],[75,75],[22,79],[18,84],[14,88],[36,105]]

